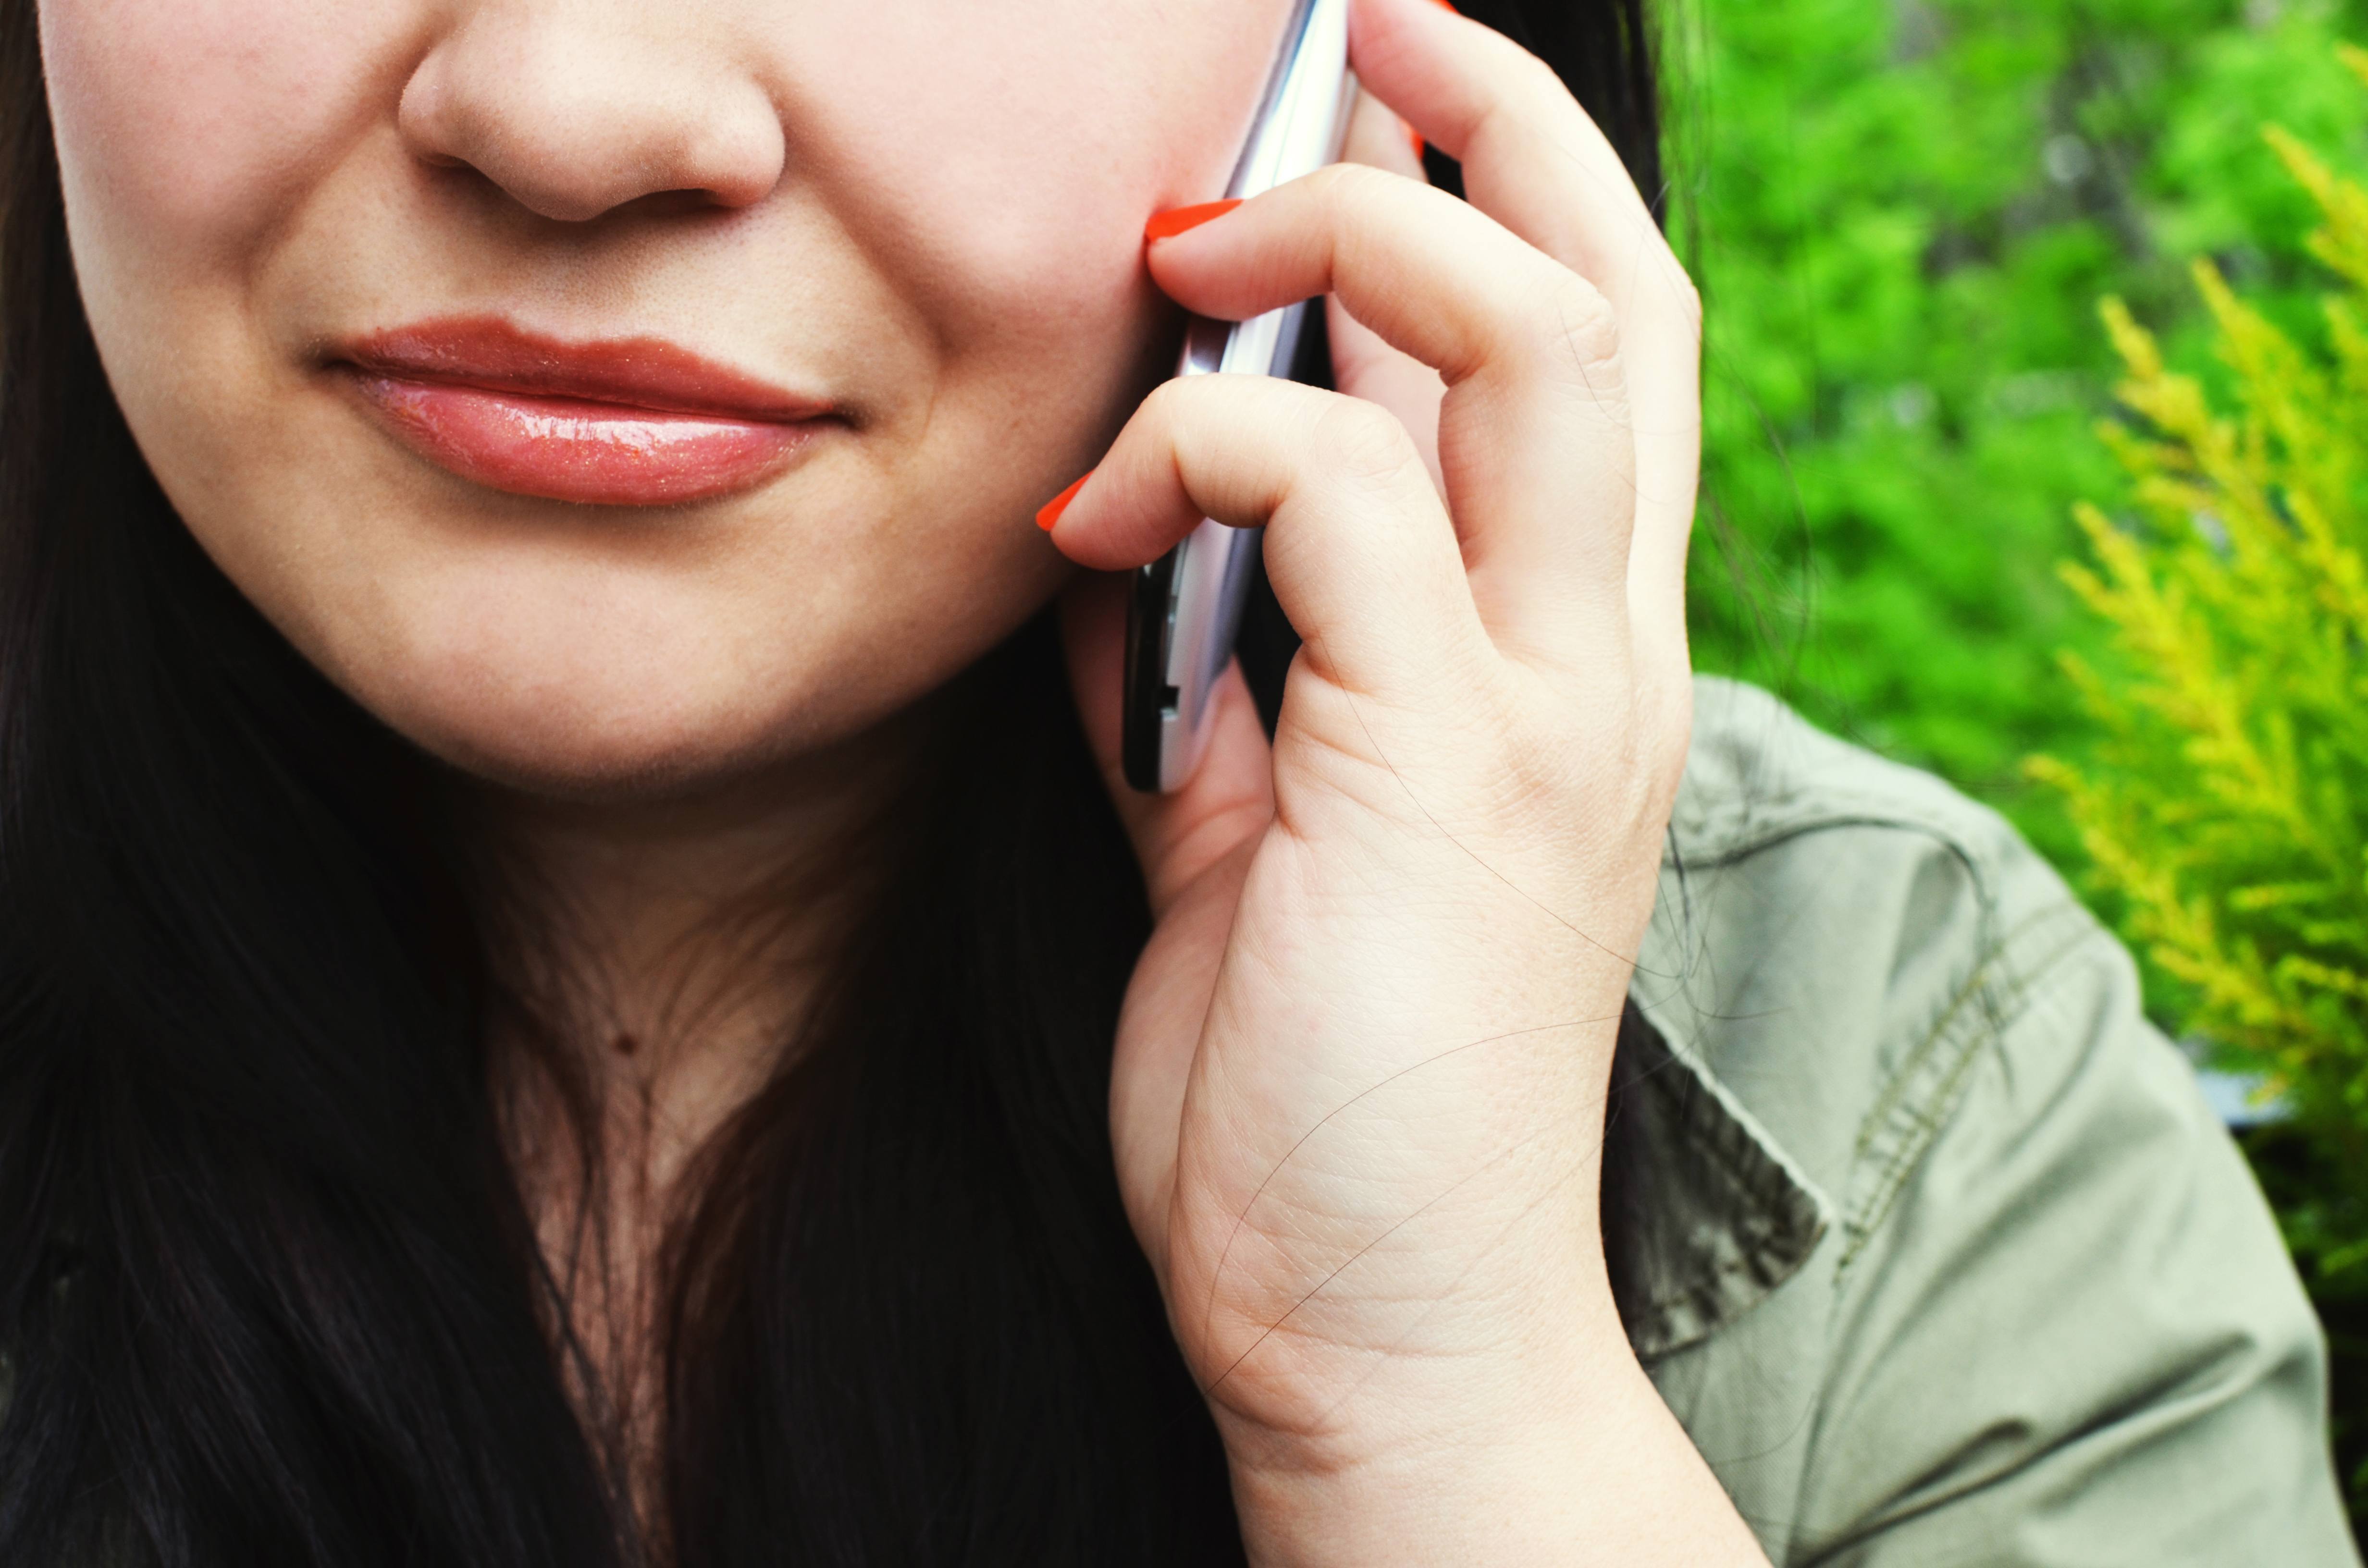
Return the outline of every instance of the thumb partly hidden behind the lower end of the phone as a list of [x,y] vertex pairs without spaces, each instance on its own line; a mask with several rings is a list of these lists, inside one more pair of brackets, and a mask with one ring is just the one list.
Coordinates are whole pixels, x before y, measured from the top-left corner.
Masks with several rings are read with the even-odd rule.
[[1234,663],[1210,692],[1208,751],[1184,789],[1146,796],[1127,784],[1118,746],[1132,576],[1080,576],[1061,599],[1061,642],[1085,739],[1144,865],[1151,917],[1160,919],[1208,869],[1274,820],[1274,763],[1250,687]]

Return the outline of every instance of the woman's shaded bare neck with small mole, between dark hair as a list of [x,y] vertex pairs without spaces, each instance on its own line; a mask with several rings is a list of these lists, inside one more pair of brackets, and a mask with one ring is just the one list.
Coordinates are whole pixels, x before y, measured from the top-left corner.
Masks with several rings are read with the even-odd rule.
[[[511,1000],[490,1040],[497,1104],[592,1360],[585,1416],[635,1471],[658,1414],[656,1258],[696,1199],[682,1177],[812,1014],[919,751],[907,718],[699,796],[481,801]],[[635,1492],[646,1511],[646,1476]]]

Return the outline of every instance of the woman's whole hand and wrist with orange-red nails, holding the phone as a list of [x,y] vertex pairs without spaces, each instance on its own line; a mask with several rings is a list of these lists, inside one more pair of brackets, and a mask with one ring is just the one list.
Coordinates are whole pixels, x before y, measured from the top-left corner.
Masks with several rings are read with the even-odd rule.
[[1688,730],[1695,296],[1537,59],[1423,0],[1359,0],[1352,59],[1471,204],[1366,102],[1366,166],[1158,242],[1203,315],[1328,294],[1340,393],[1170,381],[1054,531],[1125,571],[1201,516],[1267,523],[1305,640],[1272,748],[1236,673],[1198,775],[1146,798],[1120,585],[1068,604],[1156,914],[1120,1187],[1257,1559],[1748,1561],[1596,1217]]

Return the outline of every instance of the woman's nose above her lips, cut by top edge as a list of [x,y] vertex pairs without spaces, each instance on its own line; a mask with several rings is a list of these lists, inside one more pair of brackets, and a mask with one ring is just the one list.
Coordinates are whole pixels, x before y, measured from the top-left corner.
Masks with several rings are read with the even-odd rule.
[[[403,85],[414,156],[466,163],[521,206],[587,223],[639,197],[753,206],[781,180],[781,116],[722,40],[675,7],[511,0],[464,7]],[[689,7],[696,14],[696,7]]]

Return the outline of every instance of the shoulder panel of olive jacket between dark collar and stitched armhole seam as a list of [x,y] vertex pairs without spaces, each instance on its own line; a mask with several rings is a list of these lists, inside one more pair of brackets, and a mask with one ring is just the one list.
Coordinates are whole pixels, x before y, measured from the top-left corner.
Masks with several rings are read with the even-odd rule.
[[1695,682],[1639,1000],[1845,1232],[1880,1225],[2067,964],[2129,959],[1999,812],[1767,692]]

